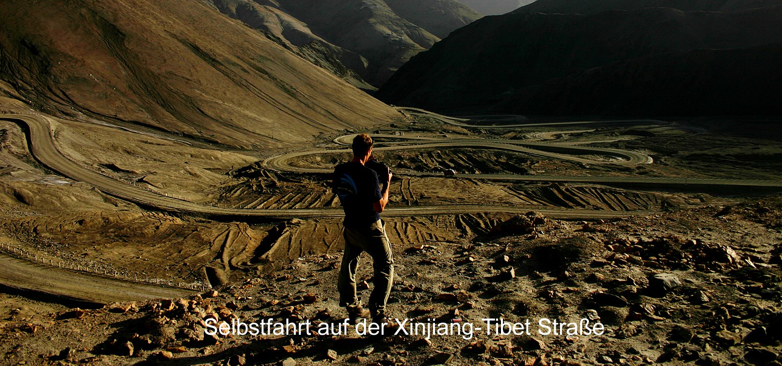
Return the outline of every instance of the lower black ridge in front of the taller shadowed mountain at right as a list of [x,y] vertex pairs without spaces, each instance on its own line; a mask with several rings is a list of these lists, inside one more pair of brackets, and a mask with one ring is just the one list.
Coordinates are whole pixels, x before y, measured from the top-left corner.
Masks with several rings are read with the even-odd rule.
[[[737,72],[739,65],[752,67]],[[665,52],[526,87],[494,110],[547,115],[782,115],[780,65],[782,44]]]

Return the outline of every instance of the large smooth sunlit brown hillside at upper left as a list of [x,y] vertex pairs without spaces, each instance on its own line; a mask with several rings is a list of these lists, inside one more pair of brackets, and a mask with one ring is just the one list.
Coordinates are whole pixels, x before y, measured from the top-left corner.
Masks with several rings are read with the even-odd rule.
[[311,141],[396,115],[203,2],[13,2],[0,24],[4,94],[59,115],[235,147]]

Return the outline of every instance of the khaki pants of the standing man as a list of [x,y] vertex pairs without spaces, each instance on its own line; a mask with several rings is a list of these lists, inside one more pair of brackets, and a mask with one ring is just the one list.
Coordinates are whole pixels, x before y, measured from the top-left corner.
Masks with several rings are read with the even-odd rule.
[[386,311],[386,302],[393,285],[393,254],[391,243],[386,236],[382,220],[378,220],[366,229],[345,228],[345,254],[342,267],[339,268],[339,305],[343,307],[358,304],[356,296],[356,267],[358,258],[366,251],[372,257],[375,268],[374,288],[369,296],[369,310],[372,315]]

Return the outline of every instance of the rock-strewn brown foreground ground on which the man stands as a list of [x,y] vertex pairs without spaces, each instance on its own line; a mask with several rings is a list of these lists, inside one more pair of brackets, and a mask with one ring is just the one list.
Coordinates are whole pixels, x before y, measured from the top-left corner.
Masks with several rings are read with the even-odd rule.
[[[109,306],[59,315],[53,312],[59,307],[24,315],[11,309],[2,352],[11,362],[34,364],[144,364],[169,356],[167,364],[239,364],[240,356],[248,364],[287,357],[297,364],[432,364],[450,357],[439,353],[452,355],[450,364],[768,364],[779,357],[782,339],[780,214],[782,203],[775,199],[615,222],[547,220],[532,236],[508,230],[411,247],[394,243],[394,318],[461,318],[476,326],[482,318],[529,318],[534,332],[539,318],[569,322],[591,314],[605,325],[602,336],[432,336],[429,344],[424,336],[356,336],[351,327],[346,336],[199,341],[185,330],[203,332],[199,311],[228,322],[341,322],[339,255],[312,255],[218,288],[216,297],[181,304],[153,301],[124,313]],[[678,286],[657,290],[651,276],[658,273],[675,275]],[[359,279],[371,286],[369,275],[364,262]],[[119,356],[128,341],[133,355]],[[66,347],[74,353],[57,361]],[[335,351],[335,361],[328,361],[326,350]]]

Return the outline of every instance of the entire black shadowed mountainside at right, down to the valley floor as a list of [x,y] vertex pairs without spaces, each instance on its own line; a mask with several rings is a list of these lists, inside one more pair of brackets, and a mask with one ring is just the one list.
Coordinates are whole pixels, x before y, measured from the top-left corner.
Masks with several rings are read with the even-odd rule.
[[[769,77],[777,75],[773,71],[777,64],[773,63],[773,52],[759,52],[755,47],[773,48],[772,44],[782,42],[780,27],[782,6],[733,12],[645,8],[609,10],[592,15],[518,12],[491,16],[461,28],[429,52],[416,56],[383,85],[377,96],[395,105],[439,111],[457,108],[488,111],[493,108],[494,112],[636,114],[652,109],[659,114],[712,115],[710,105],[703,103],[684,110],[636,110],[622,105],[624,99],[612,98],[618,94],[632,100],[651,97],[648,105],[665,105],[673,99],[669,94],[685,99],[702,98],[695,93],[707,85],[719,87],[719,91],[709,95],[721,93],[720,101],[757,95],[752,91],[752,84],[766,84]],[[736,63],[719,67],[703,63],[709,62],[709,57],[680,54],[680,59],[673,62],[672,58],[676,56],[663,55],[708,49],[747,51],[726,53],[730,56],[724,57]],[[720,52],[715,55],[717,53],[720,55],[715,57],[723,57]],[[649,62],[644,63],[642,59]],[[622,66],[615,62],[629,62],[638,67],[620,74],[618,70]],[[597,72],[595,68],[601,67],[607,69]],[[755,71],[744,74],[752,68],[769,70],[770,74]],[[615,71],[609,76],[608,69]],[[696,75],[683,77],[691,73]],[[746,83],[729,84],[734,80],[733,73],[739,73]],[[758,79],[748,79],[751,77]],[[694,86],[690,83],[693,79],[708,82]],[[558,86],[551,88],[553,84]],[[585,89],[587,84],[590,89]],[[617,89],[619,86],[623,87]],[[573,94],[576,90],[586,94],[576,97]],[[567,93],[558,94],[558,91]],[[779,87],[767,91],[772,95],[782,93]],[[548,97],[542,97],[540,93]],[[533,98],[533,94],[539,95]],[[565,100],[581,97],[595,101],[597,105],[583,102],[577,107]],[[537,104],[522,103],[533,99]],[[546,108],[539,104],[543,102]],[[746,104],[741,108],[735,106],[731,112],[766,112],[748,108]]]

